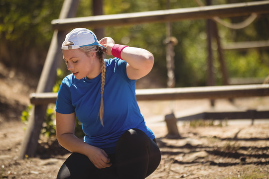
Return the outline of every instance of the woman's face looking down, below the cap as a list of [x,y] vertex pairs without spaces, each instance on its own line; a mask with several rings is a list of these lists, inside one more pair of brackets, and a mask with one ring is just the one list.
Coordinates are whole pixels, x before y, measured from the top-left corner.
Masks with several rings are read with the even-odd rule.
[[100,69],[96,68],[98,61],[95,59],[95,52],[86,55],[79,49],[63,50],[63,59],[76,79],[93,79],[100,74]]

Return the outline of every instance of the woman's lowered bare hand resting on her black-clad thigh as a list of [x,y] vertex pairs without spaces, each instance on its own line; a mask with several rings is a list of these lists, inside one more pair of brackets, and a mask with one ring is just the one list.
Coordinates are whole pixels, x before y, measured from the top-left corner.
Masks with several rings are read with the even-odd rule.
[[90,151],[87,154],[87,157],[98,169],[103,169],[112,165],[108,158],[108,154],[104,150],[94,146],[90,146]]

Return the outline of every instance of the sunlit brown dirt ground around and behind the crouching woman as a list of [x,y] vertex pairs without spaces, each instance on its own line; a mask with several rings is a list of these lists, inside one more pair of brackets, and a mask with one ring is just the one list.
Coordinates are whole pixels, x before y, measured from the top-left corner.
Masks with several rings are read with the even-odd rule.
[[[37,79],[0,64],[0,179],[55,179],[70,155],[55,138],[41,137],[37,156],[24,160],[18,154],[25,133],[21,111]],[[146,123],[155,133],[162,160],[147,179],[268,179],[269,120],[216,121],[214,125],[191,127],[178,122],[179,137],[167,136],[164,116],[176,117],[208,110],[269,109],[269,97],[216,100],[138,102]]]

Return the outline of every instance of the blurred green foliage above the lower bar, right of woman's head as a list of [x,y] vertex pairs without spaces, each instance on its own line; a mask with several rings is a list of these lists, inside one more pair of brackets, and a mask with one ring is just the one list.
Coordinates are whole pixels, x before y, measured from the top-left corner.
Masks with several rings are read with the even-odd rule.
[[[251,0],[249,0],[251,1]],[[245,2],[234,0],[234,2]],[[228,0],[216,0],[216,4],[231,3]],[[170,0],[170,8],[195,7],[198,4],[189,0]],[[166,0],[105,0],[104,13],[117,14],[150,10],[166,9]],[[231,23],[244,21],[247,17],[233,17],[224,20]],[[171,22],[172,36],[176,37],[178,44],[175,52],[175,77],[177,87],[206,86],[207,81],[207,34],[206,20],[184,20]],[[246,28],[234,30],[218,25],[219,34],[223,44],[237,41],[254,41],[268,39],[269,17],[263,15]],[[259,25],[260,24],[260,25]],[[261,25],[262,24],[262,25]],[[262,26],[263,28],[260,28]],[[155,57],[153,70],[158,71],[160,77],[166,77],[165,23],[144,23],[128,26],[106,27],[106,36],[114,38],[116,43],[141,47],[149,50]],[[255,52],[251,52],[255,51]],[[217,54],[216,42],[213,39],[214,73],[217,85],[222,85],[222,73]],[[225,51],[224,59],[228,64],[229,77],[266,77],[269,68],[269,51],[266,49],[240,51]],[[241,66],[238,57],[248,66]],[[249,63],[251,61],[251,63]],[[254,66],[253,66],[254,65]],[[262,70],[260,70],[262,69]]]

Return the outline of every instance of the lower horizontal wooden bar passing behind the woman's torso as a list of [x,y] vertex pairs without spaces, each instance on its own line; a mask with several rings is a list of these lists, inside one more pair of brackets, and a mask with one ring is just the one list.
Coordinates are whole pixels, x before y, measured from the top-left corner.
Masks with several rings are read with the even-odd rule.
[[[188,87],[171,89],[136,89],[137,100],[219,99],[251,96],[268,96],[269,84],[214,87]],[[35,105],[56,103],[57,93],[32,93],[30,102]]]

